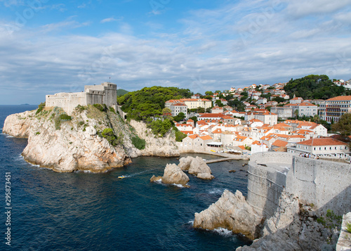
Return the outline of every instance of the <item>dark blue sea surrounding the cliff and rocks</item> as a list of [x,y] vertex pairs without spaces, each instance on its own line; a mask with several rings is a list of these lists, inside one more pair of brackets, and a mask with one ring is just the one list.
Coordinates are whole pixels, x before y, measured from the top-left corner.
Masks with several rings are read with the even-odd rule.
[[[36,108],[0,105],[0,127],[7,115]],[[215,179],[189,174],[190,188],[183,188],[150,182],[167,163],[178,164],[176,157],[137,157],[100,174],[57,173],[23,160],[27,139],[0,133],[0,250],[235,250],[250,244],[226,229],[192,226],[194,213],[225,189],[247,194],[245,160],[209,164]]]

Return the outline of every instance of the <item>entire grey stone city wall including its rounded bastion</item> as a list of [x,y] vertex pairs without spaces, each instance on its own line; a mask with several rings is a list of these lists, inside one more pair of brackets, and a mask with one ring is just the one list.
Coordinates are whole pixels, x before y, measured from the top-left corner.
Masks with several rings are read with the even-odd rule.
[[264,217],[271,217],[284,188],[316,210],[333,210],[336,214],[351,211],[350,165],[290,153],[253,154],[247,202]]

